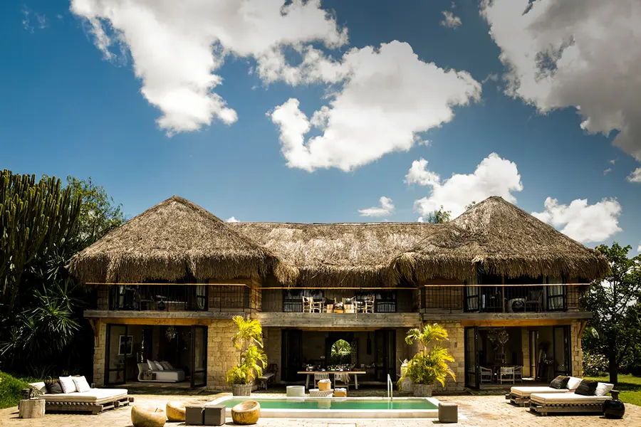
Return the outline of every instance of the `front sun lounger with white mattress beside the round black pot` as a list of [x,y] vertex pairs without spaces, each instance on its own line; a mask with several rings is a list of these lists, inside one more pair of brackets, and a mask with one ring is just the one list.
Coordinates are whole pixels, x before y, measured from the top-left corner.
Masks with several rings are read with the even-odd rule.
[[[617,399],[619,392],[610,391]],[[534,393],[530,396],[530,411],[547,415],[552,412],[603,412],[603,402],[610,396],[583,396],[575,393]]]

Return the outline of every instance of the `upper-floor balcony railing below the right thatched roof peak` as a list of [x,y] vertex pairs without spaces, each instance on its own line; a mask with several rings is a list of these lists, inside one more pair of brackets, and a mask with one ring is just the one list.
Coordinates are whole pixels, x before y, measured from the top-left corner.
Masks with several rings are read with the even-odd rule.
[[587,284],[428,285],[420,288],[424,312],[567,312],[581,310]]

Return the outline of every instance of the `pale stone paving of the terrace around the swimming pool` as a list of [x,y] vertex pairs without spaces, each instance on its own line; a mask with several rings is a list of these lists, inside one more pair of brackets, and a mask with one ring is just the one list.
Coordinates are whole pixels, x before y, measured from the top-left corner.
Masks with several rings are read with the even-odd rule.
[[[212,401],[220,395],[210,396],[159,396],[136,395],[137,405],[165,408],[168,400],[185,401],[192,404]],[[626,404],[625,418],[611,420],[597,415],[551,415],[538,416],[526,408],[512,406],[502,396],[438,396],[440,401],[459,405],[461,427],[641,427],[641,407]],[[128,427],[131,426],[130,408],[105,411],[100,415],[47,414],[44,418],[19,419],[18,408],[0,409],[0,426],[55,426],[55,427]],[[293,420],[283,418],[261,418],[259,427],[414,427],[439,424],[434,418],[406,420]],[[233,425],[231,419],[227,425]],[[184,426],[184,423],[167,423],[167,427]]]

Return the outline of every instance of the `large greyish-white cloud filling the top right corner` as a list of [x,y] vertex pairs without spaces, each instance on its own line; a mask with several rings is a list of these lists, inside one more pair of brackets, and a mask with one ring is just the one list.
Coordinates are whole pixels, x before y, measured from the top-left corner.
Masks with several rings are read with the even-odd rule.
[[575,107],[590,133],[641,161],[641,2],[484,0],[481,14],[509,65],[509,95],[548,112]]

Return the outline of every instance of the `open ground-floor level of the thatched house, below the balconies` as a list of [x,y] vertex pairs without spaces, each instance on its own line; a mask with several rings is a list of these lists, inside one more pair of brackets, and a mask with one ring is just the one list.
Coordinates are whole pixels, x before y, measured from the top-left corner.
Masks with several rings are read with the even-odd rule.
[[[444,390],[438,386],[437,392],[439,389],[462,391],[466,387],[510,386],[497,384],[500,367],[521,367],[520,376],[528,384],[548,383],[557,374],[580,376],[583,369],[582,322],[577,320],[528,320],[526,325],[503,322],[508,338],[500,344],[491,336],[501,322],[439,319],[424,322],[438,322],[447,329],[449,341],[442,346],[449,349],[455,359],[450,365],[457,379],[449,379]],[[93,374],[98,386],[141,384],[139,364],[152,359],[169,362],[174,369],[184,371],[184,379],[173,386],[206,387],[212,391],[229,389],[225,374],[238,359],[238,352],[231,344],[234,324],[229,319],[182,319],[167,325],[166,319],[119,318],[102,319],[94,325]],[[306,375],[301,371],[338,367],[362,372],[358,376],[361,386],[384,385],[387,375],[395,381],[402,361],[417,352],[416,345],[405,343],[411,325],[365,325],[363,321],[363,325],[350,327],[264,327],[268,370],[275,374],[273,384],[303,384]],[[338,344],[342,345],[340,360],[333,356],[333,348]],[[353,386],[353,377],[350,380]]]

